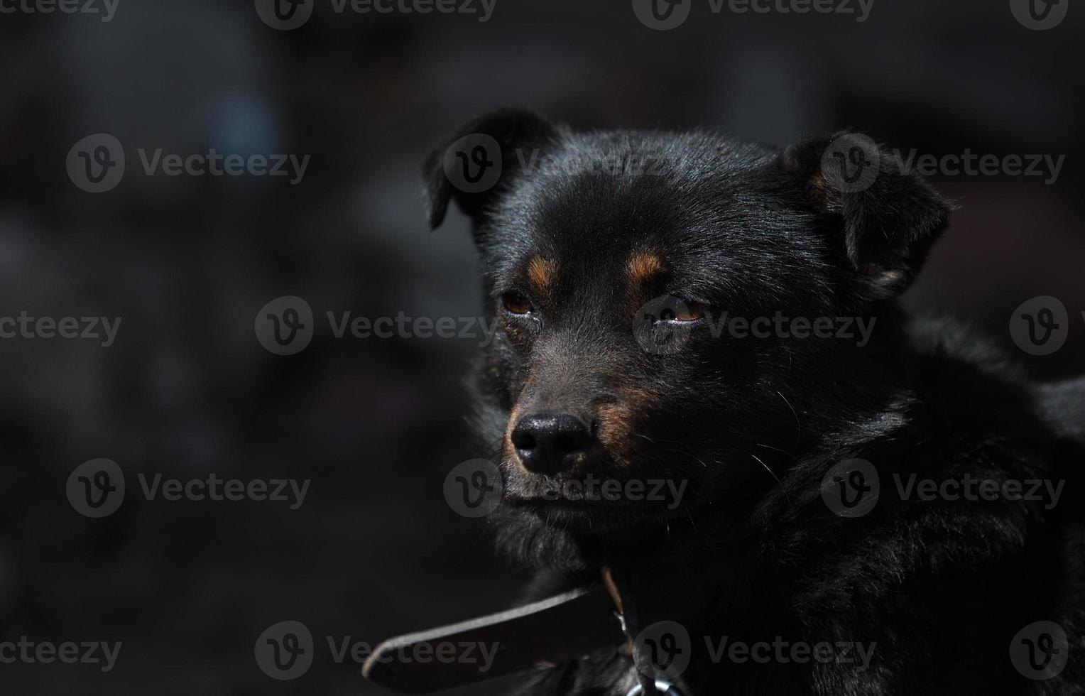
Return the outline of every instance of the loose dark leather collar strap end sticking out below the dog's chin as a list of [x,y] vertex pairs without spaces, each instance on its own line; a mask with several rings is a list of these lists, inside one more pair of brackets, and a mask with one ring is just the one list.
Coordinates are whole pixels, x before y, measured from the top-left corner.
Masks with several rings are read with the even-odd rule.
[[[599,648],[631,643],[631,636],[639,630],[636,621],[630,624],[626,613],[631,603],[613,573],[607,571],[603,578],[602,584],[508,611],[390,638],[373,649],[361,674],[400,694],[429,694],[512,672],[552,667]],[[452,648],[446,647],[449,645]],[[474,659],[458,659],[468,646]],[[480,659],[480,646],[496,648],[488,668]],[[633,653],[638,679],[643,684],[641,659],[637,657],[638,650]],[[441,655],[446,658],[441,659]],[[651,662],[648,665],[650,669]]]

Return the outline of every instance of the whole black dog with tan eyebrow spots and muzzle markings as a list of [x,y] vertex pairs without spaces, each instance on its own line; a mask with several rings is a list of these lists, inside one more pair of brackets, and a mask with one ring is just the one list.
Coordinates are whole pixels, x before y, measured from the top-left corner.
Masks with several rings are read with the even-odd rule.
[[[425,177],[500,320],[478,423],[534,596],[624,573],[690,696],[1085,693],[1085,389],[901,312],[950,206],[888,151],[506,110]],[[603,649],[524,693],[636,684]]]

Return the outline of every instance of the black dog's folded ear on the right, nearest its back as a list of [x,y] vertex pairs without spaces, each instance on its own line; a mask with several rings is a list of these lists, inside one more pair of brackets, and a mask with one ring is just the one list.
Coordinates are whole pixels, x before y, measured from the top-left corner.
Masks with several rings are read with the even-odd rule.
[[801,142],[782,162],[800,177],[807,204],[835,220],[837,243],[878,295],[907,288],[948,225],[949,203],[863,134]]

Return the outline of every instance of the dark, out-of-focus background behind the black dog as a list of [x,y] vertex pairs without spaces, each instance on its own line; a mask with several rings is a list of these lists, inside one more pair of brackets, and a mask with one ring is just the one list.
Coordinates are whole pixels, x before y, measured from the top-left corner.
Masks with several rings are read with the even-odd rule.
[[[110,22],[0,14],[0,316],[123,317],[104,349],[0,340],[0,642],[123,642],[106,674],[0,663],[0,692],[376,694],[324,636],[375,643],[513,599],[522,578],[443,494],[452,466],[484,454],[461,387],[477,340],[336,340],[323,319],[477,312],[467,223],[427,230],[419,169],[500,105],[580,127],[779,144],[854,127],[919,154],[1065,155],[1051,185],[933,177],[960,210],[908,302],[980,327],[1037,378],[1085,371],[1081,8],[1036,31],[1005,0],[875,0],[861,23],[709,7],[669,31],[628,0],[497,0],[485,23],[318,0],[286,31],[251,1],[122,0]],[[93,194],[65,157],[99,132],[124,143],[127,169]],[[296,186],[146,176],[141,148],[311,160]],[[281,295],[306,299],[320,327],[290,356],[253,330]],[[1008,330],[1037,295],[1070,312],[1047,356]],[[65,496],[95,457],[129,486],[103,519]],[[136,472],[311,485],[296,510],[148,502]],[[283,620],[317,641],[291,682],[254,660]]]

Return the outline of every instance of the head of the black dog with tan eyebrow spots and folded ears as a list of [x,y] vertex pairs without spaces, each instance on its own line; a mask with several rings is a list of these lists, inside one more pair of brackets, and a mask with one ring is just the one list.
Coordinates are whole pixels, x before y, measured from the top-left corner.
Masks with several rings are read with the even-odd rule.
[[[505,110],[425,164],[472,220],[510,504],[605,529],[775,484],[884,398],[877,326],[947,204],[840,132],[786,150]],[[497,439],[497,438],[495,438]]]

